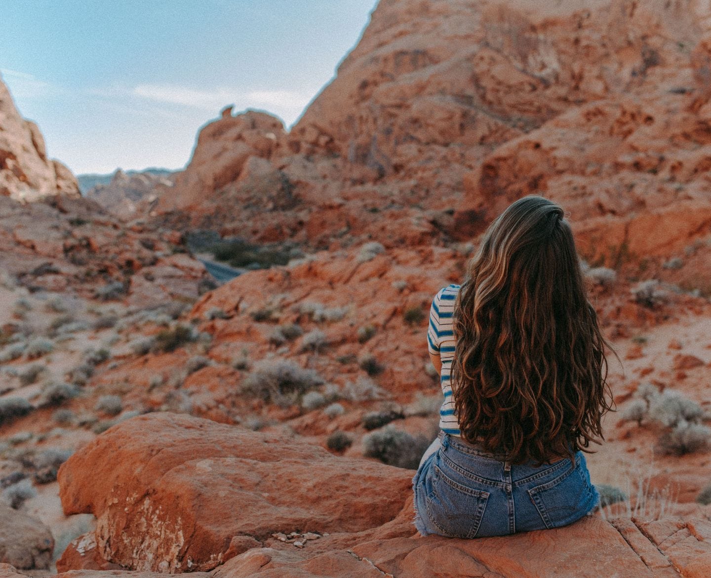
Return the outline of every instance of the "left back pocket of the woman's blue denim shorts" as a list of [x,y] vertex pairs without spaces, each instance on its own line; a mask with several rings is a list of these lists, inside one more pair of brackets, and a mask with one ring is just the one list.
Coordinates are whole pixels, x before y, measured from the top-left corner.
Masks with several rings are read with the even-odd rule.
[[479,531],[489,493],[452,480],[432,464],[432,489],[427,495],[427,517],[439,534],[473,538]]

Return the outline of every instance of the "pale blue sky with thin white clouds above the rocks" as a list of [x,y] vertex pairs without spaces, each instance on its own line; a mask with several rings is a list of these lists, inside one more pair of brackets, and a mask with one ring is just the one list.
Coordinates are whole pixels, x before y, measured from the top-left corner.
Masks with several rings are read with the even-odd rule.
[[0,72],[75,174],[183,167],[235,104],[288,126],[376,0],[3,0]]

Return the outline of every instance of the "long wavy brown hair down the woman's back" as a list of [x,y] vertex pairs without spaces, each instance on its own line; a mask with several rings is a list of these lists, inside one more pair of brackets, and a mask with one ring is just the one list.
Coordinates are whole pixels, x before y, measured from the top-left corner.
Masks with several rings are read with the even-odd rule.
[[466,441],[538,464],[602,443],[611,347],[562,207],[525,196],[493,221],[457,295],[454,335],[451,384]]

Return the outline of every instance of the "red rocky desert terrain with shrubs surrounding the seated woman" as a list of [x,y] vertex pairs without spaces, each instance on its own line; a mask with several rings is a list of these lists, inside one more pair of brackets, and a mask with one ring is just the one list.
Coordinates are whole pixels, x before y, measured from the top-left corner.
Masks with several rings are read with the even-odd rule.
[[[129,221],[0,197],[0,578],[709,576],[710,23],[381,0],[291,132],[228,107]],[[429,304],[530,192],[567,209],[619,355],[604,503],[422,538]],[[241,274],[216,287],[191,250]]]

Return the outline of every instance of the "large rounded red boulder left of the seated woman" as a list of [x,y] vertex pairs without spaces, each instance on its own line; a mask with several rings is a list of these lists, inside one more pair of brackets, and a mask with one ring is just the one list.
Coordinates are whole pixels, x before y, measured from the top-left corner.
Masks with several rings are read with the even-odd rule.
[[114,427],[70,458],[58,480],[66,514],[97,516],[102,557],[178,572],[215,567],[237,535],[381,525],[402,509],[411,477],[298,441],[163,414]]

